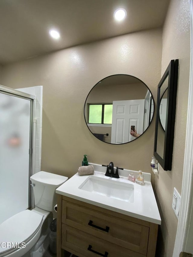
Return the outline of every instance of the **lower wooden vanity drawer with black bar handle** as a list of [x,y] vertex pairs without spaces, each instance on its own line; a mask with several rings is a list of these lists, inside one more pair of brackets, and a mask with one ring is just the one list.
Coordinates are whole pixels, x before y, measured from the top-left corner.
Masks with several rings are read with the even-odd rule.
[[109,243],[81,230],[62,224],[62,248],[78,253],[79,257],[145,257],[137,252]]

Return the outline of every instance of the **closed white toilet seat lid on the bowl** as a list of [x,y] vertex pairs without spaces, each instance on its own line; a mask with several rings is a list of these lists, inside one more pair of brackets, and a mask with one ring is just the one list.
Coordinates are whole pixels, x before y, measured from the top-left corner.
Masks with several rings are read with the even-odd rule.
[[[8,254],[21,248],[21,243],[27,243],[39,230],[43,222],[43,215],[25,210],[8,218],[0,225],[0,255]],[[4,242],[4,243],[2,243]],[[7,246],[5,243],[13,243]],[[17,247],[15,246],[17,243]]]

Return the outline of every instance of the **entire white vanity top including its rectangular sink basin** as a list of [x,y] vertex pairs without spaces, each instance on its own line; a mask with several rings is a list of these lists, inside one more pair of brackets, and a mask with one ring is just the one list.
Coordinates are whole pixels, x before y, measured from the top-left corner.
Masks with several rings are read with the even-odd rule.
[[[105,168],[94,166],[93,175],[74,174],[56,189],[62,197],[86,202],[107,210],[118,212],[144,221],[161,224],[155,195],[151,185],[151,174],[143,173],[143,186],[128,180],[128,174],[138,171],[120,170],[119,179],[106,177]],[[68,199],[68,198],[67,198]]]

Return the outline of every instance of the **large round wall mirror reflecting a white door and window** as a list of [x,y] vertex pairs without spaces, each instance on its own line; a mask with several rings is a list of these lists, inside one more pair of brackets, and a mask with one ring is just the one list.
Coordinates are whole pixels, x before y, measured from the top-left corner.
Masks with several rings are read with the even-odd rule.
[[141,136],[149,127],[153,112],[149,88],[138,78],[125,74],[99,81],[90,90],[84,105],[89,130],[111,144],[128,143]]

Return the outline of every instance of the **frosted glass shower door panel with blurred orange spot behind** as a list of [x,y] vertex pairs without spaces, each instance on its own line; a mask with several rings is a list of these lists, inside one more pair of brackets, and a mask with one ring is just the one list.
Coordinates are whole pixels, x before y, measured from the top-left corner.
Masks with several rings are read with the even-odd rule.
[[0,224],[29,207],[31,101],[0,93]]

